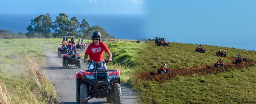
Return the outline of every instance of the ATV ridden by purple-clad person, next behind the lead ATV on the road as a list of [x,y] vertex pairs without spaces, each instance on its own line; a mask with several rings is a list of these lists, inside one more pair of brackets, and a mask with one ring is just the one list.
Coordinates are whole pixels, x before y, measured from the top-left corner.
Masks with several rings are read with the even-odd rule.
[[69,65],[76,65],[77,68],[81,68],[81,54],[71,51],[68,54],[62,55],[62,66],[69,68]]

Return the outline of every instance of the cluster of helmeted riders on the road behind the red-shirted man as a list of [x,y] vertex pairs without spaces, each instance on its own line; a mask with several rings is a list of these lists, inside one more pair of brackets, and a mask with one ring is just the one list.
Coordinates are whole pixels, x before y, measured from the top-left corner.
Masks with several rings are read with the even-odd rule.
[[[72,52],[76,53],[77,47],[75,45],[75,39],[71,38],[71,45],[68,45],[67,41],[68,41],[67,38],[63,37],[63,40],[60,44],[62,45],[62,47],[67,47],[67,49],[69,50],[68,54],[71,54]],[[82,40],[81,40],[81,38],[79,38],[78,43],[79,44],[83,43],[83,38],[82,38]]]

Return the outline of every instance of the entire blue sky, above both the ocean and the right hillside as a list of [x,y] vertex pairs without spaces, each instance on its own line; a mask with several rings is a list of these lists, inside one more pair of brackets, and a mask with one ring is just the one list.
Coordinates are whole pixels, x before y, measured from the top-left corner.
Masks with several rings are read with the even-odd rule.
[[256,0],[0,0],[0,13],[145,14],[145,38],[256,50]]

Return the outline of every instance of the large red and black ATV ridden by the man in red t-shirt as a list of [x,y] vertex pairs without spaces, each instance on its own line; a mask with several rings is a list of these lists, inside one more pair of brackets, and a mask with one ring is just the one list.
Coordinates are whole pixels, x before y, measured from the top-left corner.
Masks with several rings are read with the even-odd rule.
[[93,62],[94,68],[76,72],[76,100],[77,103],[87,104],[88,100],[107,97],[108,103],[121,104],[122,91],[120,86],[120,70],[107,70],[103,65],[108,63]]

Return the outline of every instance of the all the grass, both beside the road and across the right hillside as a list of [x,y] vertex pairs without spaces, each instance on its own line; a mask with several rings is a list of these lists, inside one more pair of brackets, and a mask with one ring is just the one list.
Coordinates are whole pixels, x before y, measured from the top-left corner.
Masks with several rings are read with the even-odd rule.
[[[164,63],[174,70],[200,65],[212,66],[220,58],[215,56],[215,52],[219,49],[217,46],[202,44],[206,53],[199,53],[195,52],[198,44],[170,43],[170,47],[155,47],[152,41],[146,43],[119,39],[103,41],[107,43],[113,54],[114,62],[108,64],[108,69],[121,70],[121,81],[132,85],[139,94],[142,104],[256,103],[256,66],[242,69],[230,68],[223,73],[206,73],[205,76],[196,74],[176,76],[163,82],[154,79],[144,81],[136,77],[137,74],[154,72]],[[38,83],[38,77],[26,77],[36,72],[36,70],[27,71],[36,68],[26,68],[29,66],[26,60],[29,57],[43,67],[46,54],[57,52],[60,42],[61,39],[1,39],[0,43],[4,44],[4,51],[0,51],[0,78],[2,80],[0,83],[1,86],[6,86],[2,87],[7,89],[3,92],[10,94],[9,100],[6,94],[6,101],[17,103],[22,99],[23,103],[58,103],[56,91],[53,90],[54,87],[47,78],[44,78],[43,83]],[[230,58],[240,53],[242,57],[256,60],[255,51],[228,47],[221,47],[221,49],[227,52],[227,57]],[[107,58],[106,53],[104,56]],[[225,63],[231,62],[228,58],[222,59]],[[24,84],[28,82],[29,84]],[[40,87],[40,90],[35,90],[33,86]],[[26,88],[28,89],[22,91]],[[42,97],[36,99],[29,96],[33,92],[37,92],[35,96]],[[33,99],[32,102],[30,99]]]

